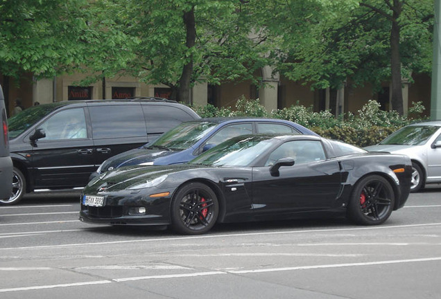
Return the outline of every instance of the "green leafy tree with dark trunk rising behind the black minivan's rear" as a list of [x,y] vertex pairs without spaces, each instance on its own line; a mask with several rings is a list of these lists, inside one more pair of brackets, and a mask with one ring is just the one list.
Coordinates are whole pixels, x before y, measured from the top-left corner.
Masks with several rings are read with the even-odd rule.
[[174,99],[189,102],[197,82],[259,82],[256,70],[268,64],[263,55],[268,44],[256,30],[261,24],[252,17],[250,1],[103,0],[92,5],[92,30],[102,32],[106,26],[132,42],[117,48],[123,57],[101,47],[105,59],[85,64],[98,72],[91,80],[128,73],[148,84],[166,84]]

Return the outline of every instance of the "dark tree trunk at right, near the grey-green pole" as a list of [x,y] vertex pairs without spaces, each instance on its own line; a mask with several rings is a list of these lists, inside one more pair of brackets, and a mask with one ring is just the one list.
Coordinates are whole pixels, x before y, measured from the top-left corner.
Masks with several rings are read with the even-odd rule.
[[399,55],[399,24],[398,18],[401,15],[403,3],[401,0],[394,0],[392,14],[392,29],[390,30],[390,71],[392,80],[392,109],[399,115],[404,114],[403,90],[401,86],[401,58]]

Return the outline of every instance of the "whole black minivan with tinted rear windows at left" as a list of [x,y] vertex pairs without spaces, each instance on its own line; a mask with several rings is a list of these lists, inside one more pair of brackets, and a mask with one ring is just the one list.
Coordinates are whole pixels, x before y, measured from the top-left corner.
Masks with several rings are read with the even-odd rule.
[[24,109],[9,119],[13,190],[0,203],[17,203],[25,192],[83,188],[107,158],[198,118],[187,106],[155,98],[54,102]]

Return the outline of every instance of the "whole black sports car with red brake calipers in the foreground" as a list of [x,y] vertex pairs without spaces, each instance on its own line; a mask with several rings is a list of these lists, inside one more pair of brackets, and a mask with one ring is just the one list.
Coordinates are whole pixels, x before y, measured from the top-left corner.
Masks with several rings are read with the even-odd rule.
[[217,222],[340,212],[381,224],[404,206],[412,164],[318,136],[239,136],[187,164],[121,167],[89,182],[80,220],[171,225],[206,233]]

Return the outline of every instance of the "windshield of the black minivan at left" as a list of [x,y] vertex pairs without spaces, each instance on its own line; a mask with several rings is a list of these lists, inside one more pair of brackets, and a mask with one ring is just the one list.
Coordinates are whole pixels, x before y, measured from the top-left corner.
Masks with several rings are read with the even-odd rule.
[[23,133],[28,127],[32,127],[50,114],[52,111],[60,107],[60,103],[53,103],[49,105],[37,105],[24,109],[16,116],[8,118],[9,138],[13,139]]

